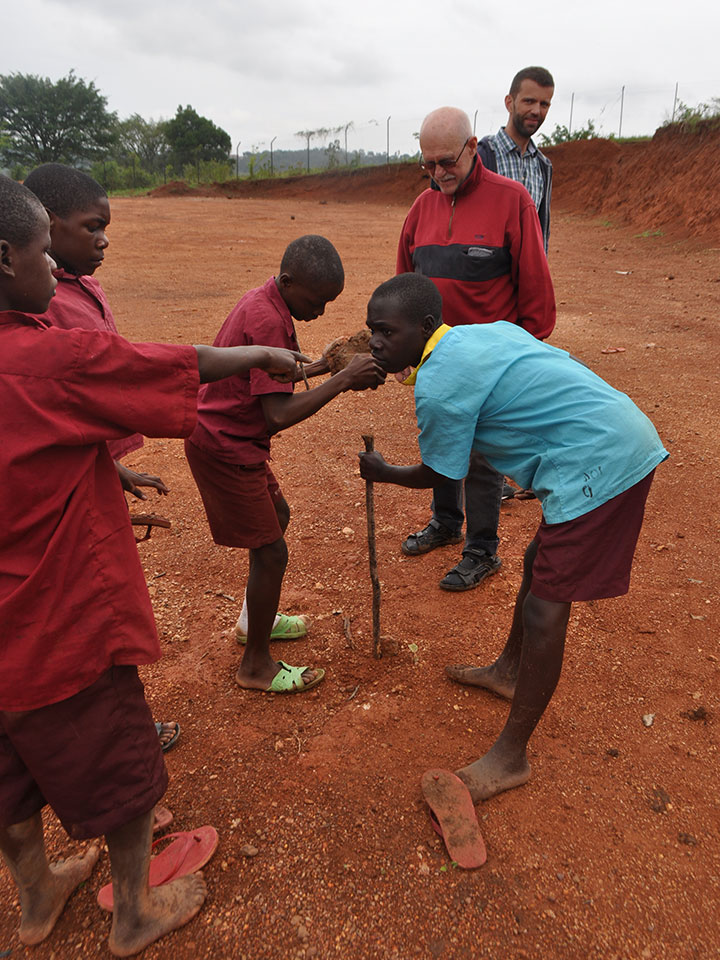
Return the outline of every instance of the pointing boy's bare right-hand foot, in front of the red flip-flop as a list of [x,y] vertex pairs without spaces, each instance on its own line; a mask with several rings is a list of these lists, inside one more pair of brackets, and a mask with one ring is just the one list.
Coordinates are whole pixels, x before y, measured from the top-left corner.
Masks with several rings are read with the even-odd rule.
[[108,946],[116,957],[131,957],[145,947],[179,930],[198,913],[207,896],[202,873],[180,877],[161,887],[151,887],[144,908],[134,919],[118,920],[113,925]]

